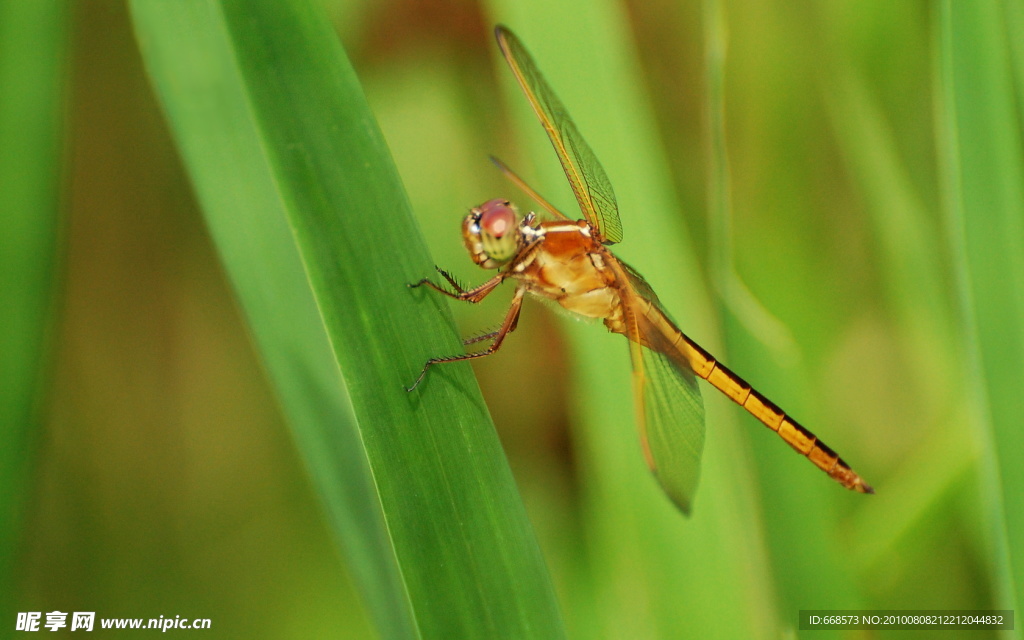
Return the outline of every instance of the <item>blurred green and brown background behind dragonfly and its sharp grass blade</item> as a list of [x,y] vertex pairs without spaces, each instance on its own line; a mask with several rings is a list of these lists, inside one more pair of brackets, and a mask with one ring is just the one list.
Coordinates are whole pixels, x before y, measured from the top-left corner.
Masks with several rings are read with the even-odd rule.
[[[25,6],[0,2],[4,614],[375,637],[357,551],[307,479],[129,8]],[[486,278],[461,217],[532,206],[488,154],[572,212],[499,60],[508,24],[608,171],[617,253],[878,492],[844,492],[705,386],[684,519],[645,471],[625,342],[527,302],[474,371],[568,636],[796,637],[800,609],[1020,613],[1024,3],[324,8],[419,222],[382,226],[395,252],[422,232],[438,265]],[[454,309],[463,335],[500,321],[506,289]]]

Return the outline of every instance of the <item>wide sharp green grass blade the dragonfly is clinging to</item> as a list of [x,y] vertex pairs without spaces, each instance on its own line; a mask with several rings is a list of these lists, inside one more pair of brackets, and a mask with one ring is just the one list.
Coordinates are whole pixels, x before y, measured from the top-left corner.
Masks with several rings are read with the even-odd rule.
[[303,2],[132,6],[381,634],[559,637],[547,569],[468,368],[402,388],[427,357],[462,347],[444,303],[406,287],[432,265],[330,26]]

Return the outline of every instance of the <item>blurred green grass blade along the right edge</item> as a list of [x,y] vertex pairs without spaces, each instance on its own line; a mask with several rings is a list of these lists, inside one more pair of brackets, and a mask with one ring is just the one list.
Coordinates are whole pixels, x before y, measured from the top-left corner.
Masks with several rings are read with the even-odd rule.
[[[950,242],[980,398],[997,598],[1024,610],[1024,148],[998,3],[943,2],[940,147]],[[1019,637],[1018,632],[1018,637]]]

